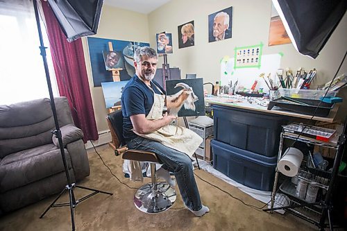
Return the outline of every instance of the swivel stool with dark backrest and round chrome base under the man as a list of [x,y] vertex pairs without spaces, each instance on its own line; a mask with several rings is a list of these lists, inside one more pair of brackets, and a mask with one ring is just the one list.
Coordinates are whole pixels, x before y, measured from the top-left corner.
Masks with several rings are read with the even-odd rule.
[[151,164],[151,183],[140,187],[134,196],[134,204],[142,212],[149,214],[164,212],[176,200],[176,191],[167,182],[157,182],[155,164],[160,164],[153,152],[128,149],[124,145],[123,115],[121,110],[112,112],[106,117],[112,135],[115,155],[122,155],[125,160],[149,162]]

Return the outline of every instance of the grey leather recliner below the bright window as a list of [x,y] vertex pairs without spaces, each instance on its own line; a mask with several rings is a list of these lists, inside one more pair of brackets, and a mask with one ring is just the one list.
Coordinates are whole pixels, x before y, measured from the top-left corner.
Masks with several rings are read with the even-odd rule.
[[[71,181],[90,174],[83,132],[65,97],[54,99]],[[51,102],[0,105],[0,215],[56,194],[67,185]]]

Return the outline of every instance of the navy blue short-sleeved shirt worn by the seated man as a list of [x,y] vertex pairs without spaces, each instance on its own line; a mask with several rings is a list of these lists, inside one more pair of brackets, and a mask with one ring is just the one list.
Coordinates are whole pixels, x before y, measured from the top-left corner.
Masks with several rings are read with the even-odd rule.
[[[153,82],[157,87],[153,85]],[[151,81],[152,89],[155,94],[161,94],[158,90],[160,85],[155,81]],[[166,94],[164,89],[160,87],[163,94]],[[121,110],[123,113],[123,136],[126,142],[137,137],[133,132],[133,124],[131,123],[130,116],[134,114],[145,114],[147,116],[151,111],[154,102],[154,94],[149,87],[146,86],[142,80],[133,76],[126,84],[121,94]]]

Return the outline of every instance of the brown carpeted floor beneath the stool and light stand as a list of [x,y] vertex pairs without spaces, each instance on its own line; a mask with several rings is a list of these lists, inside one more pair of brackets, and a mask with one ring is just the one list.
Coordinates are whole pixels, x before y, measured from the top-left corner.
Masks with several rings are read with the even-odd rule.
[[[129,182],[121,171],[121,157],[116,157],[107,145],[96,148],[105,163],[122,182],[130,187],[140,187],[142,182]],[[113,193],[113,196],[97,194],[76,207],[76,230],[314,230],[314,226],[290,214],[262,212],[248,207],[225,192],[196,178],[201,199],[210,207],[210,213],[198,218],[183,207],[178,195],[172,209],[160,214],[145,214],[135,208],[135,189],[129,189],[112,176],[94,152],[88,151],[90,176],[78,185]],[[196,175],[212,182],[244,203],[262,207],[264,204],[202,170]],[[145,179],[149,182],[149,178]],[[177,189],[178,191],[178,189]],[[83,189],[74,190],[76,198],[87,194]],[[43,219],[40,214],[56,196],[24,207],[0,218],[0,230],[71,230],[69,207],[51,208]],[[68,202],[67,195],[60,200]]]

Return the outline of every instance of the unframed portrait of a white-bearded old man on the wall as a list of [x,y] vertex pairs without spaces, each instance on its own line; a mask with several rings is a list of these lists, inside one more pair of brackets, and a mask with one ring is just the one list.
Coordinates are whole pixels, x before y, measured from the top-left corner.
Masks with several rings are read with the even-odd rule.
[[232,6],[208,16],[208,42],[226,40],[231,37]]

